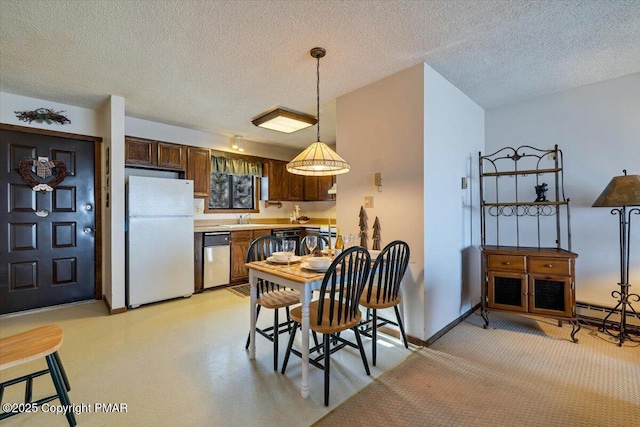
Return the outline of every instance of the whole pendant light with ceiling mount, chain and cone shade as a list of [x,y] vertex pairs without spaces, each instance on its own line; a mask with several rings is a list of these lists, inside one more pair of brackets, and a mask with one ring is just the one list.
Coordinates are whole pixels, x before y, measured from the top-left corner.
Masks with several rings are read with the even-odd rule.
[[321,47],[311,49],[311,56],[316,58],[318,65],[316,68],[316,105],[318,109],[317,139],[302,153],[287,163],[287,171],[296,175],[308,176],[328,176],[340,175],[349,172],[351,166],[345,162],[327,144],[320,141],[320,58],[323,58],[326,51]]

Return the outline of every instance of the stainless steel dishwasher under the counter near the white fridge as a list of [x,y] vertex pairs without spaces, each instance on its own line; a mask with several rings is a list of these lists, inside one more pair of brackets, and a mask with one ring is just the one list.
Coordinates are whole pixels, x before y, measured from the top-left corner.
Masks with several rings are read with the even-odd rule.
[[204,289],[229,284],[230,233],[204,233]]

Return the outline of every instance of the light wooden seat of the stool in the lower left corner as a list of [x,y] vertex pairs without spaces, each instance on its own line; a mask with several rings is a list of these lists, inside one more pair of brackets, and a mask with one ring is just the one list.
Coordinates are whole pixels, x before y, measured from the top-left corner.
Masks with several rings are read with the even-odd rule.
[[0,370],[41,359],[62,346],[62,329],[47,325],[0,338]]

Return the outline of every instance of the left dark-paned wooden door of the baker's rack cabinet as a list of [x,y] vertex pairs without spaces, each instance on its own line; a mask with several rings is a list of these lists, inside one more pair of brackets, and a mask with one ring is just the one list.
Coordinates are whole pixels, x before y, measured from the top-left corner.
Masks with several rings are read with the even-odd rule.
[[489,273],[489,307],[527,311],[527,275],[507,272]]

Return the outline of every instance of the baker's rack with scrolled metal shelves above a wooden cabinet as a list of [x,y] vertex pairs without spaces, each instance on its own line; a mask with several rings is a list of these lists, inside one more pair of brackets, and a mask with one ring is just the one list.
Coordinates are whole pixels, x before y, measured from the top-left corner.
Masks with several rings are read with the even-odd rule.
[[567,320],[573,326],[571,338],[578,341],[578,255],[571,252],[562,159],[557,145],[552,149],[505,147],[487,156],[479,154],[485,329],[490,310],[507,310]]

